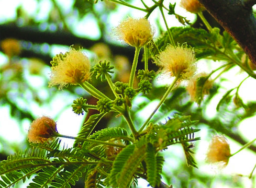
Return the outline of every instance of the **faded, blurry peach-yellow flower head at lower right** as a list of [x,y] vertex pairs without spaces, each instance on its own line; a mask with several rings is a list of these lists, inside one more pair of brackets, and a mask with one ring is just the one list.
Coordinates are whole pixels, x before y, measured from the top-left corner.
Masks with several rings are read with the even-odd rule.
[[230,156],[230,148],[226,137],[214,135],[209,144],[206,160],[209,163],[222,162],[226,166]]

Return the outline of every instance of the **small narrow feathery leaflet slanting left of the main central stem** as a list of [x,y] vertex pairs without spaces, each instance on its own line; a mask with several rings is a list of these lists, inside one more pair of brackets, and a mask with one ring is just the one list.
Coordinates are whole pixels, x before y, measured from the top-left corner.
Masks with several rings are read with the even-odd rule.
[[[91,115],[89,117],[89,119],[84,123],[84,125],[82,126],[82,128],[81,128],[80,132],[77,134],[77,136],[79,136],[80,138],[87,138],[88,136],[90,136],[94,127],[97,125],[99,120],[101,120],[105,114],[106,113],[99,113],[99,114]],[[79,140],[75,140],[74,146],[77,146],[79,144],[82,145],[82,142]]]

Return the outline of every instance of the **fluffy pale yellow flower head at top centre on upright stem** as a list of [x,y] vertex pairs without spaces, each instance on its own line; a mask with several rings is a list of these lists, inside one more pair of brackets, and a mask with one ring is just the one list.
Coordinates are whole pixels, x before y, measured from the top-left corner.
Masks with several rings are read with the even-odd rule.
[[116,28],[120,40],[131,46],[142,47],[153,39],[153,29],[146,18],[127,18]]

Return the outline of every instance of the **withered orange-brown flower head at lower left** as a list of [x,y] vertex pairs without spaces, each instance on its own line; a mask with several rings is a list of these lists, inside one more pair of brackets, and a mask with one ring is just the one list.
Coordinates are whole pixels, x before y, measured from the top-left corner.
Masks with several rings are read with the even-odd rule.
[[32,143],[44,143],[57,133],[56,123],[50,117],[42,116],[34,120],[28,131],[28,140]]

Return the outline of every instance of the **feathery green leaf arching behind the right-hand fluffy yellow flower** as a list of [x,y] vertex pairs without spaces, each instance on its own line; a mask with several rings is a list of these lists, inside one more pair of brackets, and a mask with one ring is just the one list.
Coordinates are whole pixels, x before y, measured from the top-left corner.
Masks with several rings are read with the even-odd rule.
[[[172,27],[170,30],[175,43],[186,43],[194,48],[197,60],[209,56],[215,56],[216,60],[228,60],[219,49],[232,49],[236,44],[226,31],[221,35],[218,28],[214,28],[213,32],[192,27]],[[156,42],[159,50],[164,50],[168,43],[167,32]],[[151,55],[154,56],[157,53],[158,50],[153,49]]]

